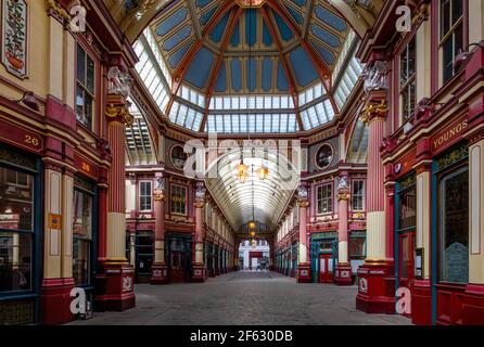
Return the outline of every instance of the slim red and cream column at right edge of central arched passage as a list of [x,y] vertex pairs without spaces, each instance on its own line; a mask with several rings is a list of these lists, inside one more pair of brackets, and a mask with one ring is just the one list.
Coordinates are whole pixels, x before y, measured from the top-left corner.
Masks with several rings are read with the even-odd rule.
[[298,261],[297,283],[309,283],[310,264],[307,261],[307,207],[309,206],[307,187],[303,183],[298,189],[300,204],[300,234],[298,234]]

